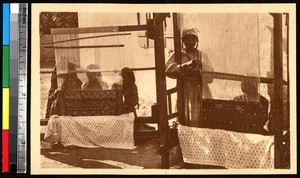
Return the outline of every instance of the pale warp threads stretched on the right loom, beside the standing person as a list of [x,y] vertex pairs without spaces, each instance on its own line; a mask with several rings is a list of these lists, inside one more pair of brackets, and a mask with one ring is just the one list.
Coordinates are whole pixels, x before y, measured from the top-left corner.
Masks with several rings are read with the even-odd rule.
[[[198,49],[207,54],[214,72],[259,77],[258,14],[182,13],[179,17],[181,31],[198,29]],[[209,84],[213,98],[231,100],[242,95],[242,79],[214,79]]]

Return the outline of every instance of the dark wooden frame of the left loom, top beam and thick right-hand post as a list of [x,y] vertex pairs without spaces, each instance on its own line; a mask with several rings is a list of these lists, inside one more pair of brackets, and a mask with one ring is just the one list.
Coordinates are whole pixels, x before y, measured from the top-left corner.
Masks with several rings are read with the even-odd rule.
[[[161,25],[159,27],[163,27],[162,23],[163,20],[166,17],[166,14],[156,14],[156,16],[159,16],[158,20],[161,22]],[[157,26],[154,27],[152,25],[128,25],[128,26],[104,26],[104,27],[84,27],[84,28],[56,28],[56,29],[51,29],[51,33],[52,35],[60,35],[60,34],[83,34],[83,33],[105,33],[105,32],[128,32],[128,31],[150,31],[149,29],[152,29],[153,32],[155,32],[157,29]],[[162,29],[162,28],[161,28]],[[161,31],[163,34],[163,31]],[[154,36],[156,36],[156,34],[154,34]],[[75,40],[80,40],[81,38],[77,38]],[[157,41],[157,38],[155,37],[154,41],[157,45],[160,44],[164,44],[164,41],[162,39]],[[59,41],[59,42],[65,42],[65,41],[70,41],[70,40],[64,40],[64,41]],[[49,44],[49,43],[47,43]],[[52,43],[53,44],[53,43]],[[47,48],[54,48],[51,46],[46,46]],[[92,47],[92,46],[89,46]],[[113,47],[113,46],[111,46]],[[161,48],[162,47],[162,48]],[[156,71],[156,81],[159,81],[160,79],[158,78],[162,78],[163,77],[163,72],[164,72],[164,64],[160,65],[160,67],[163,68],[159,68],[157,67],[157,65],[159,65],[159,60],[157,59],[161,59],[161,52],[164,52],[164,46],[160,46],[160,47],[155,47],[155,49],[160,49],[159,52],[157,52],[155,50],[155,67],[149,67],[149,68],[135,68],[135,70],[155,70]],[[163,56],[164,57],[164,56]],[[158,62],[159,61],[159,62]],[[163,61],[164,63],[164,58]],[[157,71],[162,71],[161,73],[157,74]],[[86,72],[85,70],[79,71],[80,73],[82,72]],[[43,72],[43,73],[51,73],[51,72]],[[165,83],[161,83],[161,85],[164,85]],[[160,93],[160,87],[157,87],[157,93]],[[158,94],[157,94],[158,95]],[[165,95],[161,95],[160,93],[160,98],[163,98],[163,96]],[[157,103],[159,103],[160,100],[157,98]],[[162,130],[162,128],[160,128],[160,123],[162,123],[162,121],[159,120],[160,116],[159,116],[159,106],[162,106],[161,104],[154,104],[151,107],[151,116],[150,117],[135,117],[135,124],[143,124],[143,123],[154,123],[154,124],[158,124],[159,126],[159,130]],[[41,119],[40,121],[40,125],[47,125],[49,119]],[[167,130],[166,127],[164,127],[165,130]],[[148,130],[148,131],[138,131],[134,133],[135,136],[137,136],[136,138],[154,138],[154,137],[159,137],[159,131],[157,130]],[[41,139],[43,138],[43,134],[41,134]]]

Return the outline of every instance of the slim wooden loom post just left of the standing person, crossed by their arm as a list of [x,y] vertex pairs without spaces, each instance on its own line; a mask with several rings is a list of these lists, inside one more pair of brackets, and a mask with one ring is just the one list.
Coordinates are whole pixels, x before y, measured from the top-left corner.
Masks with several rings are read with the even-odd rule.
[[[173,13],[173,33],[174,33],[174,49],[175,62],[181,64],[181,36],[180,21],[177,13]],[[178,120],[180,124],[184,123],[184,104],[183,104],[183,81],[179,77],[177,79],[177,110],[179,113]]]

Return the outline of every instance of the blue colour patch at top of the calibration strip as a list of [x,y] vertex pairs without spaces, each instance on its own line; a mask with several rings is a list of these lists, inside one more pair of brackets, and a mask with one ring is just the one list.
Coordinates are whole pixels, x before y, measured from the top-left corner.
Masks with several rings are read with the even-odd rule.
[[3,45],[9,45],[10,37],[10,5],[3,3]]

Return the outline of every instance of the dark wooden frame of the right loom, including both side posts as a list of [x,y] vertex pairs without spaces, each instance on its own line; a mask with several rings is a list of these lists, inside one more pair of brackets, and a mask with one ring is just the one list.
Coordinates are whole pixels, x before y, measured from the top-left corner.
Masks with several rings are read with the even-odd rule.
[[[261,83],[266,84],[273,84],[274,85],[274,100],[272,105],[274,107],[271,110],[273,113],[273,118],[270,120],[274,124],[274,142],[275,142],[275,162],[274,167],[276,169],[284,168],[283,165],[283,85],[287,85],[289,89],[289,70],[288,73],[288,81],[283,80],[283,61],[282,61],[282,14],[281,13],[271,13],[270,15],[273,16],[274,19],[274,78],[267,78],[267,77],[259,77]],[[287,14],[288,19],[288,14]],[[287,28],[289,29],[289,24],[287,23]],[[181,37],[180,37],[180,20],[177,17],[177,13],[173,13],[173,29],[174,29],[174,46],[175,46],[175,61],[180,63],[181,61]],[[289,32],[287,32],[289,34]],[[288,40],[288,39],[287,39]],[[288,55],[287,55],[288,56]],[[163,89],[163,88],[162,88]],[[183,92],[182,92],[182,81],[177,79],[177,87],[172,88],[167,91],[167,98],[171,100],[172,93],[178,93],[178,112],[175,114],[179,116],[179,122],[183,121],[183,113],[184,113],[184,103],[183,103]],[[288,92],[288,103],[289,100],[289,91]],[[169,102],[169,105],[171,103]],[[288,105],[288,113],[289,113],[289,105]],[[174,114],[172,114],[174,115]],[[172,115],[165,115],[165,118],[174,118]],[[289,117],[289,114],[288,114]],[[161,135],[163,138],[168,138],[168,132],[162,132]],[[289,139],[289,138],[288,138]],[[163,139],[162,139],[163,140]],[[169,140],[167,142],[162,143],[163,147],[173,147],[174,145],[169,145]],[[289,145],[288,145],[289,147]],[[167,153],[162,155],[162,167],[169,168],[169,155]]]

